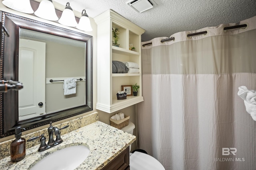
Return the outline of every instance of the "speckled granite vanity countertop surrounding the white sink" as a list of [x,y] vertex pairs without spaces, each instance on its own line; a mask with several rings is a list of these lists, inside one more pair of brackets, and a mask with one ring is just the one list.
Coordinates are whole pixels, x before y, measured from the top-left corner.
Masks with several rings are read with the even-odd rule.
[[[134,135],[125,133],[110,125],[96,121],[62,135],[63,142],[56,147],[38,152],[39,145],[26,150],[26,157],[16,163],[10,162],[10,156],[0,160],[1,170],[27,170],[44,156],[69,146],[86,145],[90,154],[76,169],[100,170],[118,154],[129,147],[136,139]],[[46,139],[48,141],[48,139]]]

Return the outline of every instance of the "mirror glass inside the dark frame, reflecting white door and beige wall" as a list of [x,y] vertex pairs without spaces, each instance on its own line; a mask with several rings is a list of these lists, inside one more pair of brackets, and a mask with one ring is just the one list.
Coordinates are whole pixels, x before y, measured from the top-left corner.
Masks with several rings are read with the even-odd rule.
[[[86,43],[28,29],[20,29],[19,39],[26,54],[19,57],[19,121],[86,104]],[[77,79],[76,93],[65,96],[63,80],[69,78]]]

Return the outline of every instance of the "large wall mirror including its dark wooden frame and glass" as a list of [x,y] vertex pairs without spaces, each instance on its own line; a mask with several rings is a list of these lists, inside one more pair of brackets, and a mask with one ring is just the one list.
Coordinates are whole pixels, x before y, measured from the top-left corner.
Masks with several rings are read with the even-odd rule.
[[[1,11],[0,137],[92,111],[92,36]],[[66,86],[67,82],[70,84]]]

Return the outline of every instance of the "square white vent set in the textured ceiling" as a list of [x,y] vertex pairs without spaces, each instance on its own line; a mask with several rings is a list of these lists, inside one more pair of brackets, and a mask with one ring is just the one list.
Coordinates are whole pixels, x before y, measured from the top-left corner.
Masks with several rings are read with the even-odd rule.
[[[152,0],[151,0],[152,1]],[[154,1],[149,0],[130,0],[126,2],[130,7],[132,7],[137,12],[144,12],[146,10],[149,10],[150,8],[153,8],[156,3]]]

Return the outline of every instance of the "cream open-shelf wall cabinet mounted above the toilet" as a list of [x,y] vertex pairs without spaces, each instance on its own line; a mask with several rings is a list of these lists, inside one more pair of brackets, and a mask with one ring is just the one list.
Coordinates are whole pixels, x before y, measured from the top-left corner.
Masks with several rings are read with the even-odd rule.
[[[145,30],[112,10],[100,14],[94,20],[98,25],[96,109],[113,113],[144,101],[141,86],[141,35]],[[118,28],[120,32],[118,39],[120,47],[112,45],[114,40],[112,27]],[[129,50],[129,44],[133,44],[136,51]],[[112,61],[114,60],[138,63],[140,73],[112,73]],[[124,100],[117,100],[116,93],[122,90],[122,85],[135,83],[140,86],[138,96],[127,96]]]

